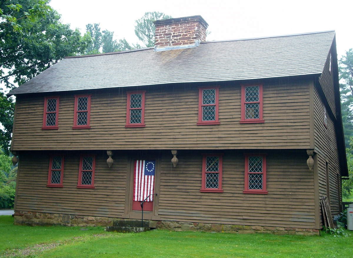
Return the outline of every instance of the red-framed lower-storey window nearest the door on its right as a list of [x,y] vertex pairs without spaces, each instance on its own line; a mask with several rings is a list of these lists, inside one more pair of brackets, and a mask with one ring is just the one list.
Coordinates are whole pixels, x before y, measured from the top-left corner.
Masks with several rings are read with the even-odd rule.
[[222,153],[202,154],[202,183],[200,192],[223,192]]

